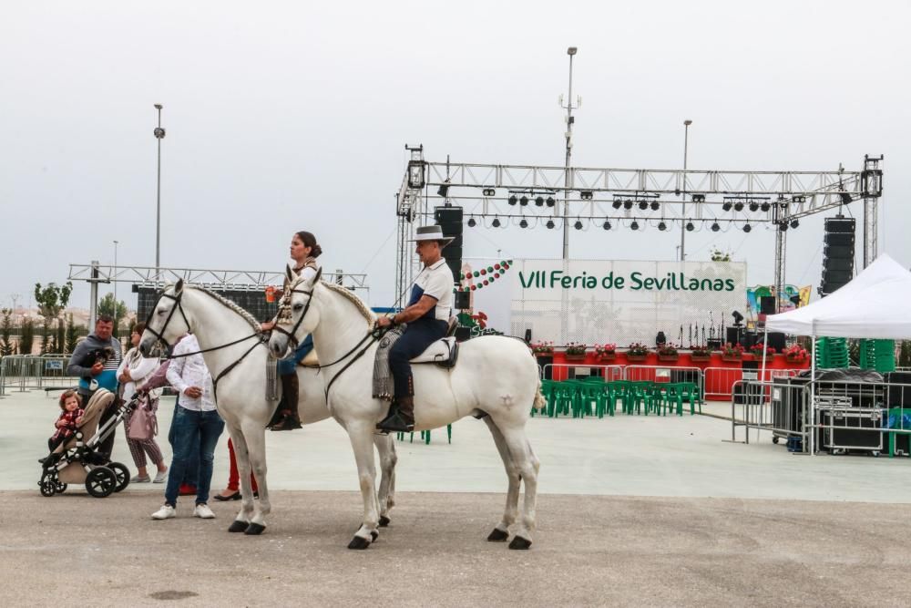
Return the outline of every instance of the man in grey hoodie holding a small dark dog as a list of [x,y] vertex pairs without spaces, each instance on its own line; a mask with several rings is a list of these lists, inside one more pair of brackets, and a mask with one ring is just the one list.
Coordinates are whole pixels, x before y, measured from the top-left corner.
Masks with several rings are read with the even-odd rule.
[[[98,388],[107,388],[117,395],[117,369],[120,366],[120,341],[111,335],[114,333],[114,319],[107,314],[98,317],[95,333],[76,345],[73,355],[69,357],[67,374],[79,376],[79,396],[83,407],[88,406],[88,399]],[[107,349],[107,350],[106,350]],[[109,356],[102,355],[103,353]],[[87,359],[91,359],[91,361]],[[117,411],[116,404],[111,404],[98,420],[103,425]],[[99,446],[98,452],[110,459],[114,450],[114,431]]]

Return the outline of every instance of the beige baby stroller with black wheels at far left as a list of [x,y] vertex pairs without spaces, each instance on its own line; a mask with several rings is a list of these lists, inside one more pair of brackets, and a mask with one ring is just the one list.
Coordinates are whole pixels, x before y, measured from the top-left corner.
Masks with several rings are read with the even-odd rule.
[[138,403],[138,395],[128,402],[121,402],[115,416],[99,428],[98,419],[111,406],[115,397],[107,389],[99,388],[88,400],[82,424],[77,427],[73,437],[67,438],[46,458],[39,460],[42,471],[38,486],[42,496],[64,492],[70,483],[84,483],[89,494],[103,499],[128,486],[127,466],[111,462],[97,451],[98,445],[110,437],[121,420]]

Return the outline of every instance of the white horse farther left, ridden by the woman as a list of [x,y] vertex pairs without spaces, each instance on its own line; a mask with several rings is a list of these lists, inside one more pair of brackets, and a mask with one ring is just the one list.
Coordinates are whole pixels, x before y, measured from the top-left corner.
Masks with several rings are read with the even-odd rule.
[[[271,511],[266,482],[265,428],[277,407],[266,398],[266,365],[269,350],[260,334],[260,324],[251,314],[219,294],[202,287],[184,286],[180,280],[159,298],[148,317],[139,351],[148,354],[157,340],[173,345],[192,332],[215,382],[216,407],[234,442],[237,467],[241,476],[241,511],[229,531],[261,534],[265,516]],[[325,391],[314,367],[298,366],[298,399],[301,424],[329,417]],[[281,383],[279,383],[281,386]],[[383,513],[381,526],[389,523],[394,504],[395,444],[393,438],[377,436],[383,479],[379,501]],[[303,442],[302,442],[303,445]],[[371,451],[373,448],[371,448]],[[253,501],[250,472],[256,476],[260,500]]]

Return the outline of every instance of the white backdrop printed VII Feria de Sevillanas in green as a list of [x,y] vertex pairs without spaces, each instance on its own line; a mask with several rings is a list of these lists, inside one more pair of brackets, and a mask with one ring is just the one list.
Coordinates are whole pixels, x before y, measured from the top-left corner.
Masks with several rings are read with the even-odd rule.
[[[500,261],[496,261],[500,262]],[[463,271],[492,260],[466,260]],[[487,275],[472,278],[477,283]],[[535,341],[701,344],[743,310],[746,264],[605,260],[516,260],[506,273],[472,292],[473,312],[510,335],[532,330]]]

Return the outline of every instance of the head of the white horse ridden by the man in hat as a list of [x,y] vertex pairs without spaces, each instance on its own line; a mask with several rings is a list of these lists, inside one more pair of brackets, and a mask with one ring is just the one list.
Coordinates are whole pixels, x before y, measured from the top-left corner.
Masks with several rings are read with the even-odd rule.
[[295,273],[291,266],[285,268],[284,293],[281,295],[275,327],[269,338],[272,356],[285,356],[289,349],[297,347],[320,325],[320,311],[313,304],[313,292],[320,283],[320,268],[311,279]]

